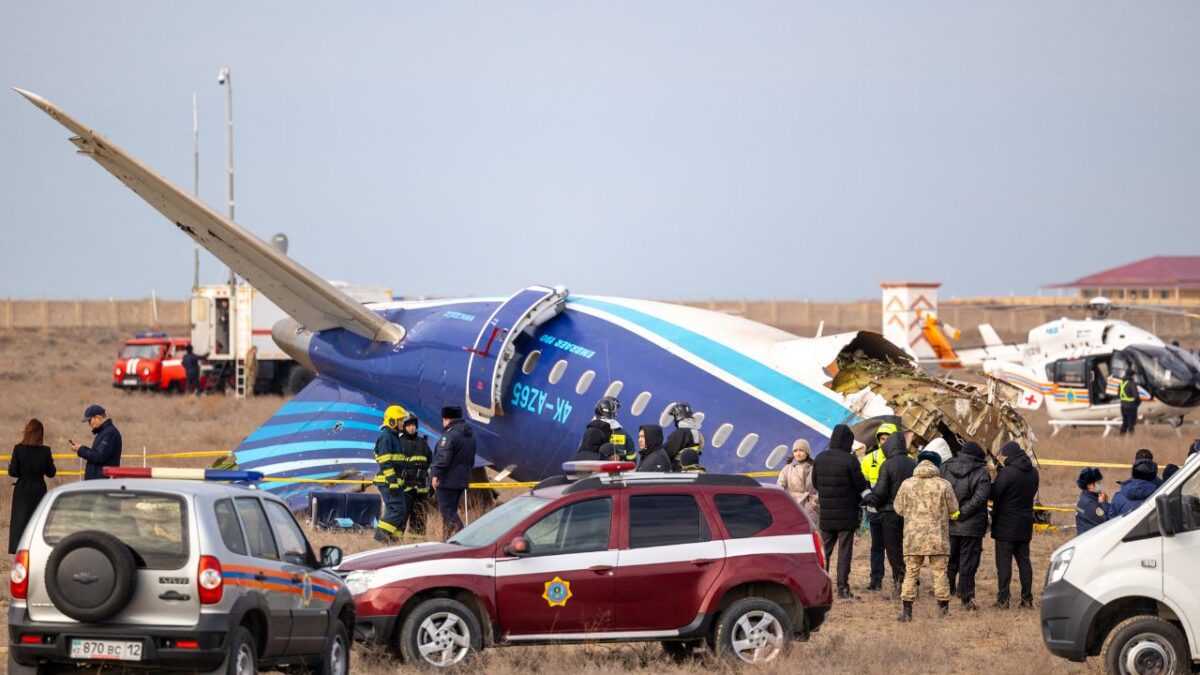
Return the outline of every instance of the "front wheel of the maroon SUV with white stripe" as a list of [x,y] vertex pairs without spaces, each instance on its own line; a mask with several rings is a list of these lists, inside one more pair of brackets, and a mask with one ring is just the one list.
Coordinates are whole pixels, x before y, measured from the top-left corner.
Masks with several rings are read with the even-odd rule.
[[458,601],[425,601],[400,628],[400,653],[413,665],[449,668],[481,649],[484,631],[479,620]]

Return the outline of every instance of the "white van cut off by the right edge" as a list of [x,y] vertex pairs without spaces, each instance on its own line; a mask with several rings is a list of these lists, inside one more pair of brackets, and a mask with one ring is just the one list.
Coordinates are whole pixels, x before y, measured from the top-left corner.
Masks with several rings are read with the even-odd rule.
[[1042,639],[1057,656],[1099,656],[1122,674],[1200,663],[1200,455],[1136,510],[1055,551]]

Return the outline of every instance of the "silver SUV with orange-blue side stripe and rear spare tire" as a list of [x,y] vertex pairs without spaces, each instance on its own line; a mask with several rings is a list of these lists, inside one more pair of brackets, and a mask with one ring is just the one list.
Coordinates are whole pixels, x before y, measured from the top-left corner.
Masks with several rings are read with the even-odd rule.
[[354,601],[277,497],[132,478],[52,490],[10,580],[8,673],[108,663],[346,675]]

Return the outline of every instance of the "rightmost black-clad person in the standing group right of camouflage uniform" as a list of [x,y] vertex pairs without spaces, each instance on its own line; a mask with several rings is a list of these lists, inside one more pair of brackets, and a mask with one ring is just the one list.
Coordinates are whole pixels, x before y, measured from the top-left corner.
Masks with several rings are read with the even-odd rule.
[[991,538],[996,540],[996,604],[1008,609],[1008,585],[1013,581],[1013,560],[1021,580],[1021,607],[1033,607],[1033,566],[1030,540],[1033,538],[1033,498],[1038,494],[1038,470],[1030,455],[1014,441],[1000,448],[1001,468],[991,485]]

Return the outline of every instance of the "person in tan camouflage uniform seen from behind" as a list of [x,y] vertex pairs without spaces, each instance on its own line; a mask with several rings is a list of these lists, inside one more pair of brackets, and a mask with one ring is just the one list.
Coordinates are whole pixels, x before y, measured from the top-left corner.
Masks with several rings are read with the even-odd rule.
[[896,515],[904,518],[904,586],[900,589],[900,621],[912,621],[912,603],[917,599],[917,578],[928,566],[934,573],[934,597],[941,616],[950,611],[950,583],[946,566],[950,560],[950,515],[959,510],[954,488],[938,476],[936,453],[920,453],[912,478],[900,485],[893,502]]

